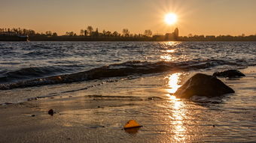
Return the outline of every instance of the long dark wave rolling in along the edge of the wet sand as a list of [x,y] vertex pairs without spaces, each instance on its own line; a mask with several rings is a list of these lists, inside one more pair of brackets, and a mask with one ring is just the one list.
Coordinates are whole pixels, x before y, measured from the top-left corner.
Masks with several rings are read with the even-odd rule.
[[[120,64],[110,64],[104,67],[94,68],[92,70],[86,70],[79,73],[64,74],[59,76],[50,76],[45,78],[31,79],[21,82],[14,83],[5,83],[0,84],[0,90],[8,90],[13,88],[27,88],[38,85],[52,85],[52,84],[61,84],[61,83],[71,83],[71,82],[83,82],[93,79],[107,79],[112,77],[121,77],[121,76],[132,76],[132,75],[144,75],[149,73],[163,73],[166,71],[188,71],[188,70],[200,70],[210,67],[215,67],[219,65],[231,65],[239,66],[241,64],[208,59],[208,60],[197,60],[197,61],[182,61],[182,62],[172,62],[172,61],[158,61],[158,62],[148,62],[148,61],[126,61]],[[58,70],[58,69],[56,69]],[[19,70],[12,75],[23,76],[29,73],[29,76],[35,75],[38,76],[41,73],[47,73],[47,70],[41,70],[37,67],[29,67]]]

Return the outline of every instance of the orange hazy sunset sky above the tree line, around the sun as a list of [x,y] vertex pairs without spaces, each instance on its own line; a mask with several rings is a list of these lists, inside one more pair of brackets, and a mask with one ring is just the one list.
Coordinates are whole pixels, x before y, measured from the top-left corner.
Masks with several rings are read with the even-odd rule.
[[[65,34],[92,25],[99,31],[164,34],[256,34],[256,0],[0,0],[0,28]],[[166,13],[178,22],[167,25]]]

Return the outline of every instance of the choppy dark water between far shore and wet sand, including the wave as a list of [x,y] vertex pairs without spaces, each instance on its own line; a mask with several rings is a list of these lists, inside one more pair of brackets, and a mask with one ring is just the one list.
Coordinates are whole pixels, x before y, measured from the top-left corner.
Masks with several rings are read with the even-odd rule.
[[0,89],[168,70],[247,67],[256,64],[255,46],[252,42],[2,42]]

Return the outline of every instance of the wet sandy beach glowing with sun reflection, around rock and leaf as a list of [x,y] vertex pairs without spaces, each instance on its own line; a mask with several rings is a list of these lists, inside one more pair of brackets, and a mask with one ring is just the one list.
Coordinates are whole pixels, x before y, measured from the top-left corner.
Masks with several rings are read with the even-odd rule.
[[[0,106],[0,142],[254,142],[256,68],[241,71],[215,99],[176,99],[194,73],[166,73]],[[132,119],[143,127],[123,130]]]

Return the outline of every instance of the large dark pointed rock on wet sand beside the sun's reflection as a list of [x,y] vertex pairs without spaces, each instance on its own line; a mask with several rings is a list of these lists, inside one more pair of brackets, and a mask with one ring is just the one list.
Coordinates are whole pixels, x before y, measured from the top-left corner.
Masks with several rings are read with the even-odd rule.
[[200,97],[218,97],[234,92],[232,88],[225,85],[215,76],[197,73],[178,88],[175,92],[175,96],[180,98],[190,98],[194,95]]

